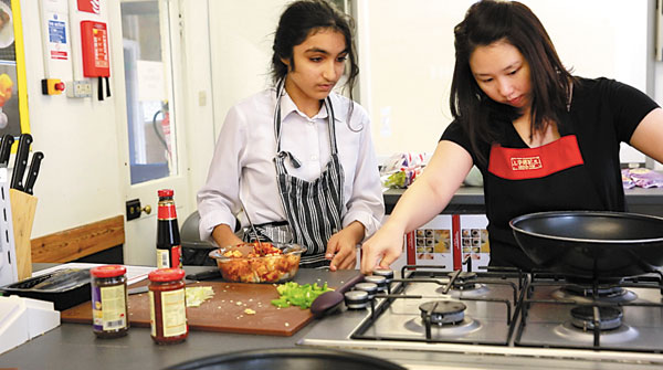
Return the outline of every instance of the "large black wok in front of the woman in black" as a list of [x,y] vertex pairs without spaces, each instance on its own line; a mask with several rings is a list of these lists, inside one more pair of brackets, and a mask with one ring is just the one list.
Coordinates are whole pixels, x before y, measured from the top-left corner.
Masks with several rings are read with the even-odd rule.
[[663,219],[624,212],[525,214],[509,225],[536,264],[567,276],[614,279],[663,265]]

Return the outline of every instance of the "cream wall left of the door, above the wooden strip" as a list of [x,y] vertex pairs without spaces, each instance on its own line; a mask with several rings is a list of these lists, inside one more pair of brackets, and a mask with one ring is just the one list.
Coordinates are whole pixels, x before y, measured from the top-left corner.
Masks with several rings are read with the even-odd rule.
[[[125,117],[115,114],[113,98],[98,102],[42,95],[44,63],[38,1],[21,0],[21,10],[32,150],[44,152],[34,187],[39,203],[32,237],[124,214],[116,121]],[[119,25],[112,24],[109,30],[118,32]],[[110,76],[113,92],[118,78],[113,64]]]

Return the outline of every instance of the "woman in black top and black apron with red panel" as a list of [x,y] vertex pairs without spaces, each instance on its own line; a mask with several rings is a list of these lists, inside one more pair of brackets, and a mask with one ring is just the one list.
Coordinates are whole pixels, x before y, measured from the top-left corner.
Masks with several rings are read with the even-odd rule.
[[656,103],[613,80],[571,75],[526,6],[478,1],[454,33],[454,120],[423,175],[364,244],[365,273],[389,266],[402,235],[439,214],[473,165],[484,178],[491,265],[530,269],[512,219],[541,211],[624,211],[622,141],[663,161],[663,110]]

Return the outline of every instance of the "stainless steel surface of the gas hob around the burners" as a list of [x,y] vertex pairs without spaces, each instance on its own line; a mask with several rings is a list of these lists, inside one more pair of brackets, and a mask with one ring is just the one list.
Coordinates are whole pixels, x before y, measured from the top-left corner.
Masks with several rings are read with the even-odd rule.
[[[394,283],[392,290],[399,293],[400,284]],[[383,313],[375,320],[370,317],[370,309],[340,311],[317,323],[297,345],[377,352],[381,353],[378,356],[409,369],[523,367],[623,370],[663,367],[663,355],[660,353],[663,351],[661,340],[663,308],[636,306],[660,304],[662,298],[657,288],[629,287],[629,292],[621,295],[622,304],[627,305],[623,307],[624,324],[614,330],[603,332],[600,336],[601,349],[594,350],[592,349],[593,332],[582,331],[570,324],[570,309],[576,305],[571,303],[559,305],[561,308],[552,304],[546,304],[547,306],[533,304],[533,309],[528,311],[525,321],[527,325],[522,330],[523,336],[517,338],[518,328],[523,324],[520,310],[513,321],[513,332],[509,335],[508,326],[504,323],[506,305],[462,300],[467,306],[463,324],[456,328],[433,326],[432,341],[427,341],[425,335],[421,334],[422,319],[418,308],[421,302],[431,300],[433,297],[455,300],[486,294],[495,297],[505,294],[509,288],[506,285],[493,287],[476,284],[466,292],[450,290],[450,294],[441,295],[440,287],[430,288],[431,285],[420,283],[408,285],[403,292],[410,296],[422,295],[422,297],[396,299],[392,303],[386,298],[378,298],[376,313],[380,310]],[[554,283],[549,286],[544,284],[543,288],[537,286],[528,299],[559,300],[559,286]],[[507,295],[512,299],[512,294]],[[561,296],[570,300],[568,295]],[[588,299],[588,297],[579,297],[578,302],[587,304]],[[610,299],[609,297],[606,300],[610,302]],[[644,310],[641,311],[640,308]],[[446,329],[451,329],[448,330],[449,335]]]

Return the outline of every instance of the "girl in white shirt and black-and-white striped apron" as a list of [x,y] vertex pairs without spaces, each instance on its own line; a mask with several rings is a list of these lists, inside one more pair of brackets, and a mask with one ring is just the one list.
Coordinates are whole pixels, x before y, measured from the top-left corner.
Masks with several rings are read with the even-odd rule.
[[[256,224],[261,240],[306,246],[302,267],[354,268],[385,204],[369,117],[351,101],[351,22],[327,1],[295,1],[273,51],[274,87],[232,107],[221,128],[198,192],[201,239],[241,243],[233,229],[245,207],[242,224]],[[341,77],[350,98],[333,92]]]

